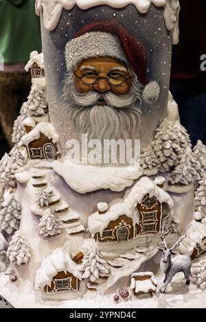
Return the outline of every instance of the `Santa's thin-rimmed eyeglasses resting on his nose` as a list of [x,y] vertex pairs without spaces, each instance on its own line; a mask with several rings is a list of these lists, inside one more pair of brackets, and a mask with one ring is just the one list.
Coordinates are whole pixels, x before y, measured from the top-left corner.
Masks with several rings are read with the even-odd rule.
[[126,80],[129,80],[132,78],[132,76],[108,76],[108,77],[99,77],[99,76],[78,76],[76,73],[74,73],[75,76],[85,85],[94,85],[95,82],[98,82],[98,80],[103,79],[107,80],[108,84],[111,86],[120,86],[126,82]]

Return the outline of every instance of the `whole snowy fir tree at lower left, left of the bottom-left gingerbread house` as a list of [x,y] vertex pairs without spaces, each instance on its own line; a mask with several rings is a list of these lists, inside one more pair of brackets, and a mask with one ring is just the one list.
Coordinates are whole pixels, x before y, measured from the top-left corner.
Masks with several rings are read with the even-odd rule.
[[19,230],[12,236],[6,255],[8,256],[10,263],[17,265],[27,264],[30,260],[30,246],[28,246]]

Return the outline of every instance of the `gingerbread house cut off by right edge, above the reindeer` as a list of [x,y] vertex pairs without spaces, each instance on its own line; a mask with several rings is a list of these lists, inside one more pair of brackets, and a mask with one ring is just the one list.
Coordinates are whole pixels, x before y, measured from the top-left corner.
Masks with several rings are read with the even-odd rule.
[[181,242],[179,251],[190,255],[192,260],[206,252],[206,226],[193,220],[186,230],[187,237]]

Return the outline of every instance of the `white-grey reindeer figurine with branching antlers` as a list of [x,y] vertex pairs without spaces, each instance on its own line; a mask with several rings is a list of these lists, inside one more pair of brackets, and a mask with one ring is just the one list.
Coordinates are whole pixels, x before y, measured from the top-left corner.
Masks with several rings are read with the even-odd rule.
[[[192,261],[191,258],[187,255],[176,255],[174,253],[174,249],[176,246],[179,246],[180,243],[185,239],[186,236],[179,238],[174,246],[172,246],[170,249],[168,248],[168,245],[165,240],[165,235],[168,235],[170,231],[164,232],[164,229],[162,231],[162,236],[161,236],[161,244],[165,246],[164,249],[160,249],[160,251],[163,252],[161,262],[160,262],[160,268],[161,271],[165,273],[165,279],[163,281],[163,288],[161,288],[161,292],[165,293],[165,290],[172,281],[174,275],[179,272],[183,272],[185,275],[186,279],[186,284],[190,285],[190,274],[191,274],[191,266],[192,266]],[[172,258],[172,255],[176,255],[174,258]]]

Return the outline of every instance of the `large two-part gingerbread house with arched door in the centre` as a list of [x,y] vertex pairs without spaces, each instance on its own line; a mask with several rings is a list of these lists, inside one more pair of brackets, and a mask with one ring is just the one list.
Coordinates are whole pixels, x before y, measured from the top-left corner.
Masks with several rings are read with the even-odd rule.
[[113,200],[106,211],[95,211],[88,220],[89,231],[99,242],[128,241],[138,235],[159,233],[163,207],[172,209],[170,195],[144,177],[123,199]]

